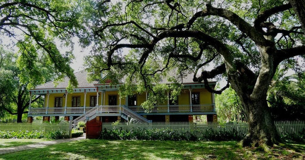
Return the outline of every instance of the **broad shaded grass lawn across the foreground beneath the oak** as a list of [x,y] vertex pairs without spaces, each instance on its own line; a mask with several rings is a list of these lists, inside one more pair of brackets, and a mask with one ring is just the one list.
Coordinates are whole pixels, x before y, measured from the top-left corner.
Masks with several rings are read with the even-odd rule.
[[304,159],[305,144],[295,152],[273,147],[273,153],[241,148],[236,141],[108,141],[86,139],[0,155],[0,159]]

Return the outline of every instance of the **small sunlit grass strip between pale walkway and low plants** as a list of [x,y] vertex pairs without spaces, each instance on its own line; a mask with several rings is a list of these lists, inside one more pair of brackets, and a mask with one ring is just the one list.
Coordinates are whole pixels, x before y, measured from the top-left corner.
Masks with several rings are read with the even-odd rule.
[[16,147],[47,141],[46,139],[0,139],[0,148]]

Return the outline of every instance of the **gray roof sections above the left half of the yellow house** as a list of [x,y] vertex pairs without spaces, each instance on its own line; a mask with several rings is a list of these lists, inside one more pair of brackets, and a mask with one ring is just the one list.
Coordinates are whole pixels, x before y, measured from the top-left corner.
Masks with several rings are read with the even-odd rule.
[[[74,73],[77,82],[78,82],[78,88],[86,88],[86,87],[95,87],[94,84],[98,83],[98,81],[93,81],[91,83],[89,83],[87,81],[87,75],[88,72],[83,70],[83,71],[79,71]],[[55,88],[66,88],[68,86],[68,82],[69,82],[69,78],[65,77],[63,79],[63,81],[56,81],[55,83],[57,83],[56,87],[55,87],[55,81],[49,81],[45,84],[42,85],[38,85],[35,87],[35,89],[55,89]]]

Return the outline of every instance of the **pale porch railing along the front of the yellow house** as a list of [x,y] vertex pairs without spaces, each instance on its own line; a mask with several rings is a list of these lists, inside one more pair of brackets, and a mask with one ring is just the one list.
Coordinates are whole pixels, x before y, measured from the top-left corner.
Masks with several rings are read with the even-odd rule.
[[[214,112],[214,104],[204,105],[159,105],[154,106],[152,113],[170,113],[170,112]],[[48,108],[31,108],[28,114],[83,114],[94,107],[48,107]],[[129,106],[128,109],[136,113],[144,113],[145,109],[141,106]],[[119,106],[101,106],[97,112],[119,112]]]

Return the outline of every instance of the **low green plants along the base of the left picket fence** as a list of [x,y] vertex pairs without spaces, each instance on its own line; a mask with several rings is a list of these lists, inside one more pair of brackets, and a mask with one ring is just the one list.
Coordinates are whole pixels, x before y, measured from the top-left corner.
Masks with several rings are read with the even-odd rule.
[[41,139],[47,137],[48,136],[41,131],[0,131],[0,138],[3,139]]

